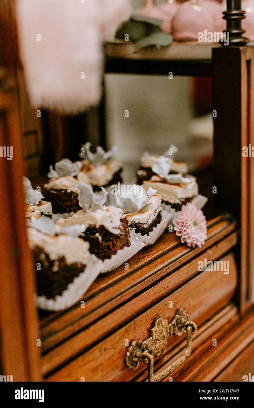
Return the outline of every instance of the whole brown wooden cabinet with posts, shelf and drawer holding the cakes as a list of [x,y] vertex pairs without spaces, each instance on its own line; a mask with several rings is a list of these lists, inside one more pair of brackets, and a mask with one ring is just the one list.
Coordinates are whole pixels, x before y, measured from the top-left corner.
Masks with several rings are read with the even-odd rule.
[[[6,22],[8,10],[0,9]],[[181,51],[177,58],[179,44],[173,56],[157,58],[114,54],[110,44],[106,72],[212,78],[217,193],[202,248],[165,232],[58,313],[39,313],[34,304],[20,182],[23,128],[15,82],[8,82],[17,78],[17,51],[7,58],[0,71],[0,144],[13,146],[15,160],[0,159],[0,330],[2,372],[13,373],[13,381],[243,381],[254,373],[254,158],[241,153],[254,146],[254,47],[237,27],[229,47],[197,59],[198,44],[183,46],[188,58]],[[227,269],[209,271],[209,261]]]

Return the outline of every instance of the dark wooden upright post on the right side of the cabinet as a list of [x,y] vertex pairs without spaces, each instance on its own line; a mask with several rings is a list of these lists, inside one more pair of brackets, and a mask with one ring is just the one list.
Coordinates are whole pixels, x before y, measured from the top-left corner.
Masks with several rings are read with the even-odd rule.
[[245,313],[253,305],[254,157],[244,157],[243,146],[254,146],[254,47],[213,49],[212,67],[214,198],[216,208],[234,213],[241,227],[239,300]]

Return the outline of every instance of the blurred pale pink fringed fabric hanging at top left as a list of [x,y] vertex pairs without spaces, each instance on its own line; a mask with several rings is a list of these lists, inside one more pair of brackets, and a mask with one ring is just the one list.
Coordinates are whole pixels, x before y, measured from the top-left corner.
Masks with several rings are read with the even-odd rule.
[[102,41],[128,19],[129,0],[17,0],[16,4],[20,54],[32,105],[78,113],[97,104]]

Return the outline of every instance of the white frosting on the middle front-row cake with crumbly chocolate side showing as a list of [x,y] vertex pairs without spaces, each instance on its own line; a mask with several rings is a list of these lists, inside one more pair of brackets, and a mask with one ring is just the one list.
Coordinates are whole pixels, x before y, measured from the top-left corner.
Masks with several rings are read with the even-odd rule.
[[122,225],[120,220],[123,217],[125,216],[120,208],[104,206],[102,210],[91,211],[90,213],[86,213],[84,209],[80,210],[66,220],[57,221],[56,225],[60,227],[67,227],[74,224],[88,224],[94,225],[96,228],[103,225],[111,233],[119,234],[121,233]]

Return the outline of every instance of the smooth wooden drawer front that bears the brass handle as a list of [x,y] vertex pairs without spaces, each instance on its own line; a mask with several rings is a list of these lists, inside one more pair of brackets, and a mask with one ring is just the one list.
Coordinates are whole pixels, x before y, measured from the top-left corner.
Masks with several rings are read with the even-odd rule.
[[[193,273],[197,272],[200,259],[201,257],[198,256],[190,262]],[[124,310],[127,311],[132,308],[133,305],[136,305],[136,309],[139,311],[139,302],[142,302],[142,299],[156,300],[156,297],[162,295],[159,302],[156,302],[147,310],[143,308],[141,313],[137,314],[135,318],[124,325],[114,321],[116,318],[114,313],[100,319],[97,324],[95,323],[90,329],[88,328],[82,332],[83,338],[89,335],[91,330],[103,330],[104,325],[108,324],[108,318],[112,320],[115,326],[118,324],[118,329],[86,352],[81,353],[78,357],[73,359],[73,361],[66,361],[66,365],[55,373],[49,373],[52,359],[55,360],[57,355],[63,355],[64,353],[68,355],[68,350],[74,347],[74,344],[80,341],[81,337],[75,336],[65,341],[64,344],[54,348],[54,350],[47,353],[43,361],[44,370],[49,373],[47,380],[82,381],[82,379],[84,379],[85,381],[132,381],[142,375],[142,373],[146,375],[146,366],[144,364],[140,364],[136,371],[130,370],[126,366],[124,356],[128,345],[130,345],[134,339],[144,341],[150,337],[150,330],[154,326],[155,319],[162,317],[170,322],[179,308],[186,309],[190,320],[196,322],[198,326],[204,325],[205,322],[208,322],[209,325],[209,319],[211,319],[212,316],[216,316],[216,313],[230,302],[237,284],[237,271],[233,253],[228,253],[222,257],[221,260],[229,262],[230,273],[227,275],[225,275],[223,271],[204,271],[173,291],[170,291],[171,275],[164,277],[159,282],[155,282],[154,286],[142,293],[142,296],[139,295],[126,302],[124,306],[121,306],[121,310],[125,313]],[[179,273],[179,270],[176,271],[176,273]],[[119,309],[117,312],[119,313]],[[185,342],[184,335],[183,337],[170,337],[166,352],[172,350],[173,355],[174,348],[179,346],[180,343],[182,344],[180,348],[184,348]],[[160,364],[159,360],[158,364]],[[155,368],[158,364],[155,364]],[[138,379],[138,381],[140,380]]]

